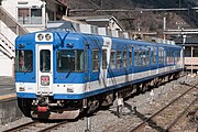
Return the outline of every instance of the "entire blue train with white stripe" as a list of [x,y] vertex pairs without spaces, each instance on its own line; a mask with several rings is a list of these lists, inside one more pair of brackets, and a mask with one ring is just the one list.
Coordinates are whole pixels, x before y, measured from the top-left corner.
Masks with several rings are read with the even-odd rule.
[[184,48],[95,34],[40,31],[15,40],[18,105],[33,119],[76,119],[177,78]]

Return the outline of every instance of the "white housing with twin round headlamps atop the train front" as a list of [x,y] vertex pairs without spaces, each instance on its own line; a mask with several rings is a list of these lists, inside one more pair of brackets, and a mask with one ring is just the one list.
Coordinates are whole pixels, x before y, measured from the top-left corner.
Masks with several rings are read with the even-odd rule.
[[36,33],[35,34],[35,42],[53,42],[53,33]]

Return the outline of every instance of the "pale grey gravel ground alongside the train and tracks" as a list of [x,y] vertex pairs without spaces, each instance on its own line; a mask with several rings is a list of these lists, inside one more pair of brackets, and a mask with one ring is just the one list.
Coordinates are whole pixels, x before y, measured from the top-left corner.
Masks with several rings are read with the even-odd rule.
[[[168,99],[172,100],[174,97],[170,96],[172,92],[178,92],[184,89],[178,89],[178,81],[186,81],[190,84],[191,81],[196,80],[197,78],[191,78],[189,76],[179,78],[178,80],[173,80],[172,82],[167,82],[164,86],[160,86],[158,88],[154,88],[152,91],[146,91],[145,94],[135,96],[133,98],[128,99],[125,106],[123,108],[123,116],[118,118],[116,116],[116,107],[110,107],[108,110],[99,110],[94,116],[91,116],[91,131],[92,132],[121,132],[124,131],[127,128],[131,128],[135,125],[134,122],[140,122],[142,119],[134,114],[132,108],[136,107],[139,113],[142,114],[142,118],[146,118],[151,116],[155,110],[155,108],[160,106],[157,103],[161,99]],[[173,88],[174,87],[174,88]],[[18,121],[11,122],[6,125],[0,125],[0,131],[7,130],[24,122],[32,121],[29,118],[22,118]],[[69,122],[61,128],[53,130],[53,132],[82,132],[87,129],[87,118],[79,119],[78,121]],[[31,132],[31,131],[29,131]]]

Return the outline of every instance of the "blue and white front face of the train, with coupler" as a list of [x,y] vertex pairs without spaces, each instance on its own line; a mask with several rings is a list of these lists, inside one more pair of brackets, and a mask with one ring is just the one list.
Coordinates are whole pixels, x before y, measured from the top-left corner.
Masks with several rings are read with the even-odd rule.
[[69,33],[38,32],[15,40],[15,87],[24,116],[75,119],[84,102],[84,45]]

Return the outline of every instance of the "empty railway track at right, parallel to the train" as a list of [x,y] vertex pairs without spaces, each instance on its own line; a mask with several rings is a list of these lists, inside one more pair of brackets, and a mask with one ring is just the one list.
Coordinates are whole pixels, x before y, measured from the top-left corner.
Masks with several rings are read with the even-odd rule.
[[154,132],[162,131],[168,132],[174,128],[178,120],[185,116],[188,109],[198,101],[197,86],[189,86],[188,90],[175,98],[161,110],[146,118],[143,122],[139,123],[135,128],[128,128],[129,132]]

